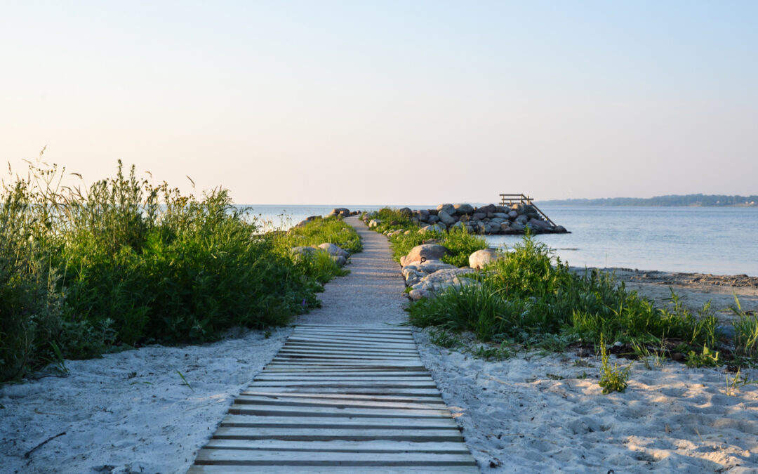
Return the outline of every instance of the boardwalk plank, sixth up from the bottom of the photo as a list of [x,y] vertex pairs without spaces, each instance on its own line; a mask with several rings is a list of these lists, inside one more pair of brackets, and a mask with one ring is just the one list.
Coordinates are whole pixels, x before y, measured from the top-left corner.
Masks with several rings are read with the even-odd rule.
[[245,405],[234,403],[229,413],[232,415],[258,416],[387,416],[396,418],[439,418],[448,417],[448,410],[414,410],[400,408],[340,408],[340,407],[277,407],[276,405]]

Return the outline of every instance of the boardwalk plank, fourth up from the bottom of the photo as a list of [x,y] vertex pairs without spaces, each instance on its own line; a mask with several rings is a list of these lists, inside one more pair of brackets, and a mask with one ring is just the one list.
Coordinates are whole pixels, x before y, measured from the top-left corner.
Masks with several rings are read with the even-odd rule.
[[413,441],[415,443],[461,441],[458,428],[350,429],[350,428],[236,428],[219,426],[214,439],[286,441]]

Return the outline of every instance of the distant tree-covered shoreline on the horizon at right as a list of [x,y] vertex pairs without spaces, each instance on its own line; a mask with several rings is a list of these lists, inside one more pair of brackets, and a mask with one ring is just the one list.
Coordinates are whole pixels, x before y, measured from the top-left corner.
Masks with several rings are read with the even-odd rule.
[[758,206],[758,196],[725,196],[723,194],[671,194],[651,198],[608,197],[603,199],[553,199],[542,204],[558,206]]

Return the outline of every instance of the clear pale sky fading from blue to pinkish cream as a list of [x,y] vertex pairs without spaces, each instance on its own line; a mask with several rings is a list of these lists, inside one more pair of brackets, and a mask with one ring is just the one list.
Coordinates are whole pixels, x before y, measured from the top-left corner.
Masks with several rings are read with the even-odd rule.
[[235,202],[758,193],[758,2],[0,3],[0,163]]

